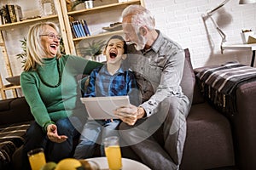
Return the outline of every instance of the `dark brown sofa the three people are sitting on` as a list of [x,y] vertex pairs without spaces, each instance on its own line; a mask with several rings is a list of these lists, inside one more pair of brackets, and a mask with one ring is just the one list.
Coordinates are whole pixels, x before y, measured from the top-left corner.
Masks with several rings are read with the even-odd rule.
[[[185,51],[182,87],[192,105],[187,117],[187,137],[180,169],[255,169],[256,82],[247,82],[236,89],[238,112],[227,116],[214,109],[203,98],[198,82],[195,81],[189,51]],[[0,126],[32,120],[24,98],[1,100],[0,108]],[[154,137],[164,145],[160,131]],[[15,169],[19,164],[19,150],[12,154],[10,169]],[[122,148],[122,155],[139,161],[136,153],[129,147]]]

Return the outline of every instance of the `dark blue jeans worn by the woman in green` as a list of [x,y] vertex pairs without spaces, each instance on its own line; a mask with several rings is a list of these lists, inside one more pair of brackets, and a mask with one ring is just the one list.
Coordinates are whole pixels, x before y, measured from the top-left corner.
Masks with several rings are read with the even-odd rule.
[[44,148],[46,161],[58,162],[67,157],[73,157],[73,138],[79,136],[79,132],[73,127],[69,118],[63,118],[55,122],[59,135],[66,135],[67,140],[55,143],[48,139],[46,133],[37,122],[32,122],[26,132],[26,141],[22,151],[23,169],[30,169],[27,152],[35,148]]

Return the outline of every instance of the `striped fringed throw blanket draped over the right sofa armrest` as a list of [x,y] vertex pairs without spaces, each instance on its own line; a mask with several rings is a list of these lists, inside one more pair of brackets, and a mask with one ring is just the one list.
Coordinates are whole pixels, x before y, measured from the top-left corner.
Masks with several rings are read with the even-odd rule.
[[223,112],[236,112],[236,88],[256,78],[256,68],[239,63],[227,63],[206,68],[196,75],[201,82],[201,91],[213,105]]

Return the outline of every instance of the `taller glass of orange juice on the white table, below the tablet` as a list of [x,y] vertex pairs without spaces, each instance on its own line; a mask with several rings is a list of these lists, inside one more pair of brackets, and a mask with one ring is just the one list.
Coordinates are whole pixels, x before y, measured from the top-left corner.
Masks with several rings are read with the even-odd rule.
[[108,159],[108,167],[110,170],[122,169],[122,156],[119,146],[119,138],[110,136],[103,141],[105,154]]

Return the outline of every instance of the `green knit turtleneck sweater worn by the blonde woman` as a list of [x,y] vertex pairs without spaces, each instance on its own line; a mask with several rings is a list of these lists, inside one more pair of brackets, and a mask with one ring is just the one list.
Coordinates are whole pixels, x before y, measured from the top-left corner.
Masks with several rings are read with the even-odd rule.
[[22,93],[35,121],[42,127],[46,122],[55,122],[76,111],[79,101],[77,75],[89,75],[92,69],[102,65],[72,55],[44,59],[43,63],[38,65],[37,71],[23,71],[20,75]]

